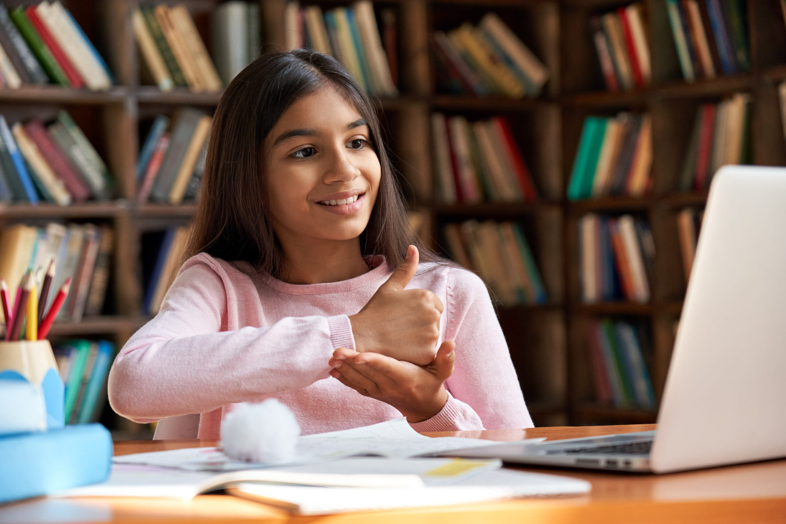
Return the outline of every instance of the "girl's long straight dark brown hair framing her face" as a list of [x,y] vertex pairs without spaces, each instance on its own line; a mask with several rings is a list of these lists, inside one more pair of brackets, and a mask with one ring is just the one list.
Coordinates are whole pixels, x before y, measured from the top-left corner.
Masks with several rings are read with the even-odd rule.
[[227,262],[248,262],[258,273],[281,274],[284,257],[270,217],[263,142],[298,97],[328,83],[368,123],[382,167],[369,224],[360,236],[362,255],[384,255],[392,270],[406,256],[407,246],[414,244],[422,262],[442,261],[410,231],[380,121],[369,97],[336,59],[304,49],[266,53],[226,87],[211,124],[188,257],[208,253]]

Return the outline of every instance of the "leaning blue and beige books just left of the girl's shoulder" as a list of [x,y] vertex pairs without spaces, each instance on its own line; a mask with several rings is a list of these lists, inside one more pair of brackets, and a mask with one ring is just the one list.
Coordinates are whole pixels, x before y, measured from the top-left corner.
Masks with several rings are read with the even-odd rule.
[[155,317],[163,296],[178,276],[189,239],[189,228],[171,227],[142,235],[143,310]]

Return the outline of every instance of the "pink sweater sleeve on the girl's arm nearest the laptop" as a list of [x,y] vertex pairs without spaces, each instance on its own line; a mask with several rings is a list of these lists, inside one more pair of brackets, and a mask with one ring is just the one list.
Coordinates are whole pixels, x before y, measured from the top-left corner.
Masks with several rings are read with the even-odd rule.
[[483,280],[449,269],[446,313],[445,339],[456,342],[455,371],[446,381],[452,397],[441,412],[418,423],[430,429],[417,431],[533,427]]

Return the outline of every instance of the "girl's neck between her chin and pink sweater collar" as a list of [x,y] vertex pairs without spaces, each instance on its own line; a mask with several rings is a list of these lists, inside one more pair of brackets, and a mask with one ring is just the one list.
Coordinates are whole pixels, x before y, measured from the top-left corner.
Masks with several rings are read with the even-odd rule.
[[288,284],[340,282],[368,273],[360,239],[281,241],[284,269],[279,280]]

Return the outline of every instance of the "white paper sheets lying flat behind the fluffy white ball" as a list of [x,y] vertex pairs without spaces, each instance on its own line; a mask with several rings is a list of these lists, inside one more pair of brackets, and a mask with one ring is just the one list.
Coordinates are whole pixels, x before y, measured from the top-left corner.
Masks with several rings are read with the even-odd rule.
[[[543,440],[542,438],[531,438],[516,441],[516,443],[536,443]],[[407,423],[406,418],[401,417],[372,426],[300,437],[296,449],[296,460],[293,460],[292,464],[317,464],[347,456],[384,456],[391,459],[403,459],[487,445],[494,445],[494,441],[479,438],[425,437],[414,431]],[[173,449],[155,453],[138,453],[116,456],[114,461],[117,464],[175,467],[185,471],[234,471],[253,467],[252,464],[246,462],[230,460],[221,450],[216,448]],[[256,466],[266,467],[268,464],[256,464]]]

